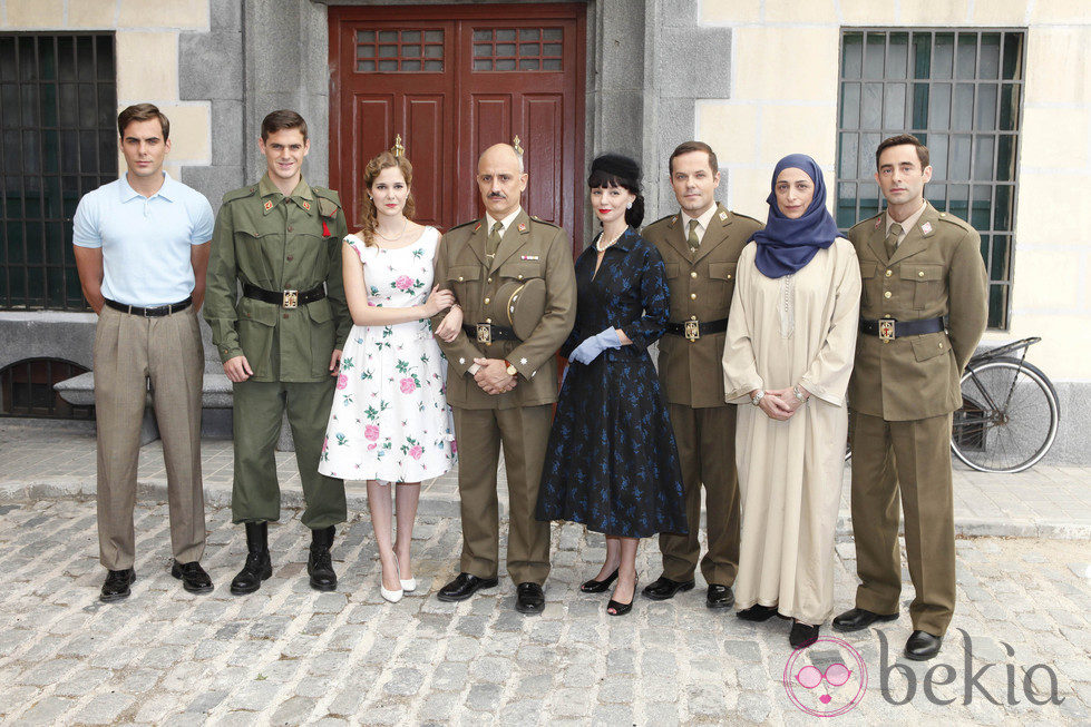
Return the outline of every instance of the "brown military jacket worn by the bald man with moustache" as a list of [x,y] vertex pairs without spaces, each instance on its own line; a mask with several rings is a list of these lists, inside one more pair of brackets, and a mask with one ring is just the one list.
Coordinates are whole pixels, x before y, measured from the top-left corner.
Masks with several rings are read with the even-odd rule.
[[[436,283],[454,291],[462,306],[466,325],[493,321],[493,298],[512,281],[542,278],[546,287],[545,313],[525,341],[477,343],[460,332],[452,343],[439,341],[447,355],[447,401],[464,409],[512,409],[557,401],[556,353],[576,320],[576,274],[572,242],[556,225],[535,219],[522,209],[504,229],[491,265],[486,262],[486,218],[451,228],[440,240]],[[438,325],[445,314],[434,318]],[[469,374],[474,358],[506,358],[518,371],[515,389],[489,395]]]

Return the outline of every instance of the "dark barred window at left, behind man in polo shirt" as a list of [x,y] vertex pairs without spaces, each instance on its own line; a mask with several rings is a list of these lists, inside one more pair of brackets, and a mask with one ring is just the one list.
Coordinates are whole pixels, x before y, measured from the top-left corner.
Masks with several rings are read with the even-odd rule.
[[84,194],[117,179],[109,33],[0,33],[0,308],[87,308],[72,255]]

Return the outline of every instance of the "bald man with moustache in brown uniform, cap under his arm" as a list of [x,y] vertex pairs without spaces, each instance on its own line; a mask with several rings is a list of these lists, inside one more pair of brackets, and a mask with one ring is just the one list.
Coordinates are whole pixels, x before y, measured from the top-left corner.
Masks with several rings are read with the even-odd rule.
[[[508,574],[518,584],[516,609],[538,613],[549,573],[549,524],[535,519],[534,508],[557,401],[556,353],[575,322],[572,243],[563,229],[520,207],[527,175],[513,147],[487,149],[477,183],[485,217],[448,232],[436,262],[437,284],[454,291],[464,310],[464,331],[451,343],[439,338],[458,441],[462,558],[461,572],[438,598],[460,601],[497,584],[496,469],[503,445]],[[519,340],[498,293],[505,284],[535,279],[545,283],[543,313],[533,333]]]

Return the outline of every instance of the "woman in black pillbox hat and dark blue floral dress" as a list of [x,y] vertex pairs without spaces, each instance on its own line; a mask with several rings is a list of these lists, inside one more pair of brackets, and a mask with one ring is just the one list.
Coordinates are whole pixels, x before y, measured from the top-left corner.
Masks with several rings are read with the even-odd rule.
[[569,520],[606,536],[606,560],[581,590],[616,580],[606,612],[627,613],[636,548],[659,532],[686,532],[674,431],[647,346],[666,330],[663,258],[635,228],[644,216],[640,167],[598,157],[587,179],[603,232],[576,259],[576,324],[538,492],[539,520]]

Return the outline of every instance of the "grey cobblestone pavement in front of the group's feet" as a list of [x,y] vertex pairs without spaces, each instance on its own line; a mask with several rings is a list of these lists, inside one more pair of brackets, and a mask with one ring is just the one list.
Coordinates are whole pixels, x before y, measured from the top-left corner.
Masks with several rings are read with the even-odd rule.
[[[602,540],[586,537],[577,525],[554,530],[545,613],[524,617],[513,610],[514,587],[503,573],[500,587],[469,601],[436,600],[435,589],[455,567],[457,518],[419,518],[413,539],[418,591],[397,605],[379,597],[366,514],[355,513],[339,530],[334,558],[341,583],[332,593],[308,586],[308,537],[298,512],[286,511],[271,529],[273,578],[247,597],[227,590],[243,560],[241,529],[231,525],[224,509],[211,509],[207,523],[203,563],[215,580],[213,593],[191,596],[171,578],[166,505],[140,504],[133,596],[104,605],[97,600],[104,571],[97,562],[92,502],[0,507],[0,720],[815,721],[793,706],[782,681],[791,656],[785,621],[752,625],[730,611],[710,611],[700,580],[698,589],[673,601],[637,598],[627,617],[607,617],[605,597],[576,590],[604,556]],[[654,541],[644,541],[639,561],[643,581],[657,574],[657,560]],[[808,691],[793,686],[792,694],[812,710],[845,706],[859,692],[866,670],[863,697],[842,720],[1087,723],[1089,560],[1087,541],[961,539],[957,611],[936,661],[897,660],[909,629],[903,615],[879,629],[847,635],[863,668],[837,645],[803,652],[792,674],[807,662],[825,670],[844,660],[853,675],[846,687],[822,682]],[[839,610],[849,606],[854,592],[850,541],[838,542],[837,561]],[[904,603],[912,598],[912,587],[906,590]],[[832,636],[824,629],[827,635]],[[947,666],[935,666],[941,662]],[[1035,667],[1040,664],[1049,670]],[[931,679],[929,669],[935,669]],[[1049,703],[1050,670],[1056,676],[1056,698],[1063,701],[1032,704]],[[980,688],[971,682],[975,675]],[[1030,679],[1030,697],[1024,679]],[[831,701],[822,704],[816,695],[825,696],[827,689]],[[970,703],[964,704],[967,695]],[[947,699],[949,705],[938,704]]]

